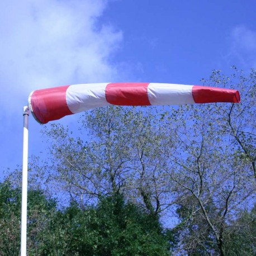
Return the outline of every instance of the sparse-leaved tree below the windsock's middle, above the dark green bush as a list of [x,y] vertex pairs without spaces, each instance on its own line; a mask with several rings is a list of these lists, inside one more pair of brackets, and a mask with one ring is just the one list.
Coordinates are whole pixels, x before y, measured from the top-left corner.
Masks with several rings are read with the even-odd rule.
[[163,191],[168,184],[159,163],[162,135],[155,111],[110,106],[84,113],[81,129],[89,133],[77,139],[63,126],[51,125],[44,135],[49,138],[52,161],[42,167],[43,172],[48,170],[48,182],[58,182],[81,206],[120,192],[152,214],[163,211],[169,206],[164,198],[172,192]]

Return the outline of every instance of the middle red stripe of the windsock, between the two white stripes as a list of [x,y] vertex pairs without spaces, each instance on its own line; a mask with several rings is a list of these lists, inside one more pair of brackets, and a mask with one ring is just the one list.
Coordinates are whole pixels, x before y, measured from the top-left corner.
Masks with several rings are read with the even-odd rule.
[[109,83],[106,87],[107,102],[121,106],[148,106],[149,83]]

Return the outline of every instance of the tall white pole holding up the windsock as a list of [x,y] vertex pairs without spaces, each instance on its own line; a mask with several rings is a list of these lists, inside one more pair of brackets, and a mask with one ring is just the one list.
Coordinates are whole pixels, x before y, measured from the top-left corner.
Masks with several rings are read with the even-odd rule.
[[23,163],[21,201],[21,256],[27,254],[27,162],[29,158],[29,107],[23,107]]

